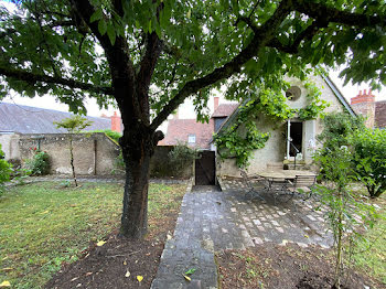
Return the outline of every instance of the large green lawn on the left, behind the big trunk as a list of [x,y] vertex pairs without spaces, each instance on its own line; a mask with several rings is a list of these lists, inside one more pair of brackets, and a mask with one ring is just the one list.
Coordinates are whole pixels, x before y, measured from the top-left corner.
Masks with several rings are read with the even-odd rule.
[[[184,185],[150,185],[150,234],[157,220],[180,206],[184,192]],[[119,184],[63,188],[46,182],[9,190],[0,199],[0,282],[43,286],[62,264],[77,260],[119,225],[121,200]]]

